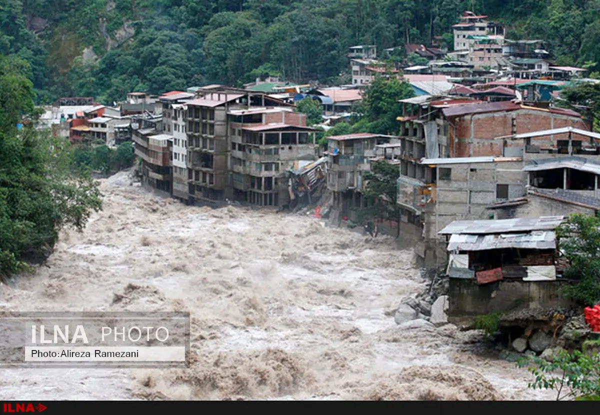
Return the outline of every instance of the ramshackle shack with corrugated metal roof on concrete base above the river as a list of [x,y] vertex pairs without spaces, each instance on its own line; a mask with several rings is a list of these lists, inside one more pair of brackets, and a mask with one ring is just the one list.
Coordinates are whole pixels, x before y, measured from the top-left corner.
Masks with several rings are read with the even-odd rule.
[[[556,233],[565,216],[454,221],[439,234],[449,252],[448,319],[470,325],[478,315],[568,306]],[[469,321],[471,320],[471,321]]]

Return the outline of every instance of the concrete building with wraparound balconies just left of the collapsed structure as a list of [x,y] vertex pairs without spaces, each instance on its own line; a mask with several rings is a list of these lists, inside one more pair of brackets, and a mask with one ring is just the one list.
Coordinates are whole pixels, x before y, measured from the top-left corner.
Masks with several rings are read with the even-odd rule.
[[230,110],[233,198],[259,206],[287,205],[286,173],[299,161],[316,160],[314,128],[285,108]]

